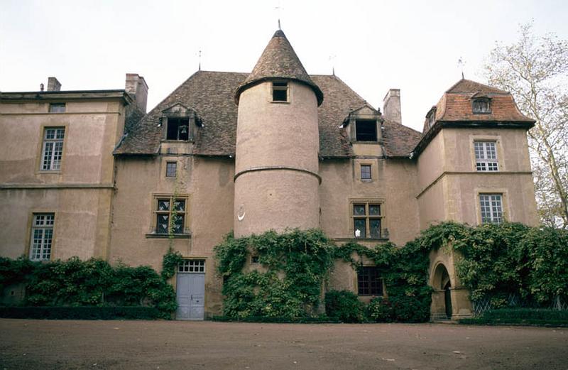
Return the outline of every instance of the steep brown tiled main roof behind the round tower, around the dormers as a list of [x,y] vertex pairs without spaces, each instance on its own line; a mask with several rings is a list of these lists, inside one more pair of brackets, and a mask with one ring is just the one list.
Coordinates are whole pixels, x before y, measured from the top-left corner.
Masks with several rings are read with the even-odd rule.
[[[199,71],[175,89],[146,116],[132,126],[114,153],[142,155],[158,153],[163,127],[158,126],[162,111],[175,104],[194,109],[203,126],[197,127],[194,153],[203,156],[229,156],[235,153],[237,106],[235,88],[248,74]],[[312,75],[325,100],[318,108],[320,156],[352,156],[345,129],[340,129],[351,111],[368,105],[364,99],[334,75]],[[384,146],[387,156],[408,156],[420,141],[420,133],[400,124],[385,121]]]

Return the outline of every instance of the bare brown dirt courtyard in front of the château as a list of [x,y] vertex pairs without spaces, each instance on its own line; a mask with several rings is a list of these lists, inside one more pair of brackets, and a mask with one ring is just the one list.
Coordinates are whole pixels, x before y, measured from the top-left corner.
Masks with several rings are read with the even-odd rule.
[[1,369],[568,369],[568,329],[0,320]]

